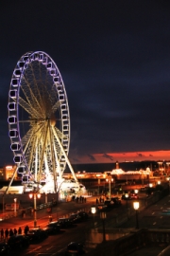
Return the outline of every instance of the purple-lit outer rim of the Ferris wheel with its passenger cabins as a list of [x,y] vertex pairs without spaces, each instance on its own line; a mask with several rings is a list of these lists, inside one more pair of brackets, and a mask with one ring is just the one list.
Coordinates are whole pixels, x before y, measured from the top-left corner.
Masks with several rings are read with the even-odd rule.
[[[13,74],[12,74],[12,78],[10,81],[10,87],[9,87],[9,96],[8,96],[8,130],[9,130],[9,137],[10,137],[10,142],[11,142],[11,146],[14,144],[16,147],[17,145],[20,145],[21,148],[17,148],[17,150],[14,150],[11,148],[11,150],[13,151],[13,155],[14,155],[14,162],[20,166],[21,161],[18,160],[19,156],[23,157],[22,162],[24,163],[24,165],[26,165],[26,169],[28,170],[27,167],[27,163],[26,163],[26,157],[25,157],[25,153],[23,150],[23,145],[22,145],[22,137],[21,137],[21,133],[20,133],[20,119],[19,119],[19,96],[20,96],[20,89],[21,89],[21,80],[22,77],[25,74],[26,71],[26,65],[27,64],[31,64],[35,61],[38,61],[42,64],[45,65],[46,69],[48,72],[50,72],[50,75],[53,77],[53,82],[56,84],[56,87],[58,88],[59,86],[62,86],[62,95],[64,95],[64,111],[62,111],[61,106],[62,104],[59,106],[60,109],[60,117],[61,117],[61,132],[64,131],[64,115],[63,113],[67,113],[67,143],[65,146],[65,152],[69,153],[69,146],[70,146],[70,114],[69,114],[69,106],[68,106],[68,101],[67,101],[67,95],[66,95],[66,91],[65,91],[65,86],[64,83],[62,81],[61,75],[59,73],[59,68],[57,66],[57,64],[55,64],[55,62],[53,61],[53,59],[46,54],[43,51],[35,51],[35,52],[26,52],[26,54],[24,54],[20,60],[17,62]],[[59,93],[59,89],[58,89],[58,93]],[[16,99],[16,101],[13,101],[13,98]],[[14,106],[15,105],[15,106]],[[14,110],[15,109],[15,110]],[[11,113],[14,113],[13,115],[11,115]],[[13,135],[13,137],[11,136],[11,134]],[[16,139],[16,136],[18,137],[18,139]],[[62,141],[62,140],[61,140]],[[13,145],[13,147],[14,147]],[[18,162],[19,161],[19,162]],[[62,163],[63,165],[63,169],[66,166],[66,161]],[[64,170],[63,170],[64,172]]]

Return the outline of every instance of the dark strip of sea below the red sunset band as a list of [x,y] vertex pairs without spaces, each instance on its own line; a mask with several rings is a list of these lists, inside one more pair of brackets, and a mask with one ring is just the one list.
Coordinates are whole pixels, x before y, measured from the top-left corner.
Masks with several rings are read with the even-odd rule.
[[[133,162],[117,162],[119,168],[123,171],[139,171],[141,169],[146,170],[150,168],[150,171],[156,171],[159,169],[159,164],[156,161],[133,161]],[[104,173],[116,169],[116,162],[113,163],[89,163],[89,164],[72,164],[72,167],[77,172],[86,173]],[[70,173],[67,168],[64,173]]]

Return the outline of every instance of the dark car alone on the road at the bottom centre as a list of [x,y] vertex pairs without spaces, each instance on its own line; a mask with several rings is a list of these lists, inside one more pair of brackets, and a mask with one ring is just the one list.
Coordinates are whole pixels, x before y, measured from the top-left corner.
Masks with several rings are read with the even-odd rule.
[[66,249],[66,256],[76,256],[85,254],[83,245],[76,242],[71,242]]

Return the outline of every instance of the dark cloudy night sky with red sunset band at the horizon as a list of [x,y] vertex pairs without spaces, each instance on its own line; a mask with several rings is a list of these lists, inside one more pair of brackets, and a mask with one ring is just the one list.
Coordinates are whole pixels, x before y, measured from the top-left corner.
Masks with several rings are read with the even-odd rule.
[[11,75],[20,57],[36,50],[50,55],[65,84],[72,163],[169,160],[167,2],[1,1],[0,165],[13,159],[7,121]]

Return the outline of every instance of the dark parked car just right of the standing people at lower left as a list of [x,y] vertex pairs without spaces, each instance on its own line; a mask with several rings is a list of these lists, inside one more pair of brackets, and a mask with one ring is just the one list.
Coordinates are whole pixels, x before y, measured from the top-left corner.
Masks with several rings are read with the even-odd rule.
[[47,238],[48,232],[47,230],[44,230],[44,229],[34,228],[34,229],[29,229],[26,235],[29,237],[30,244],[31,244],[35,242],[40,242],[43,239]]

